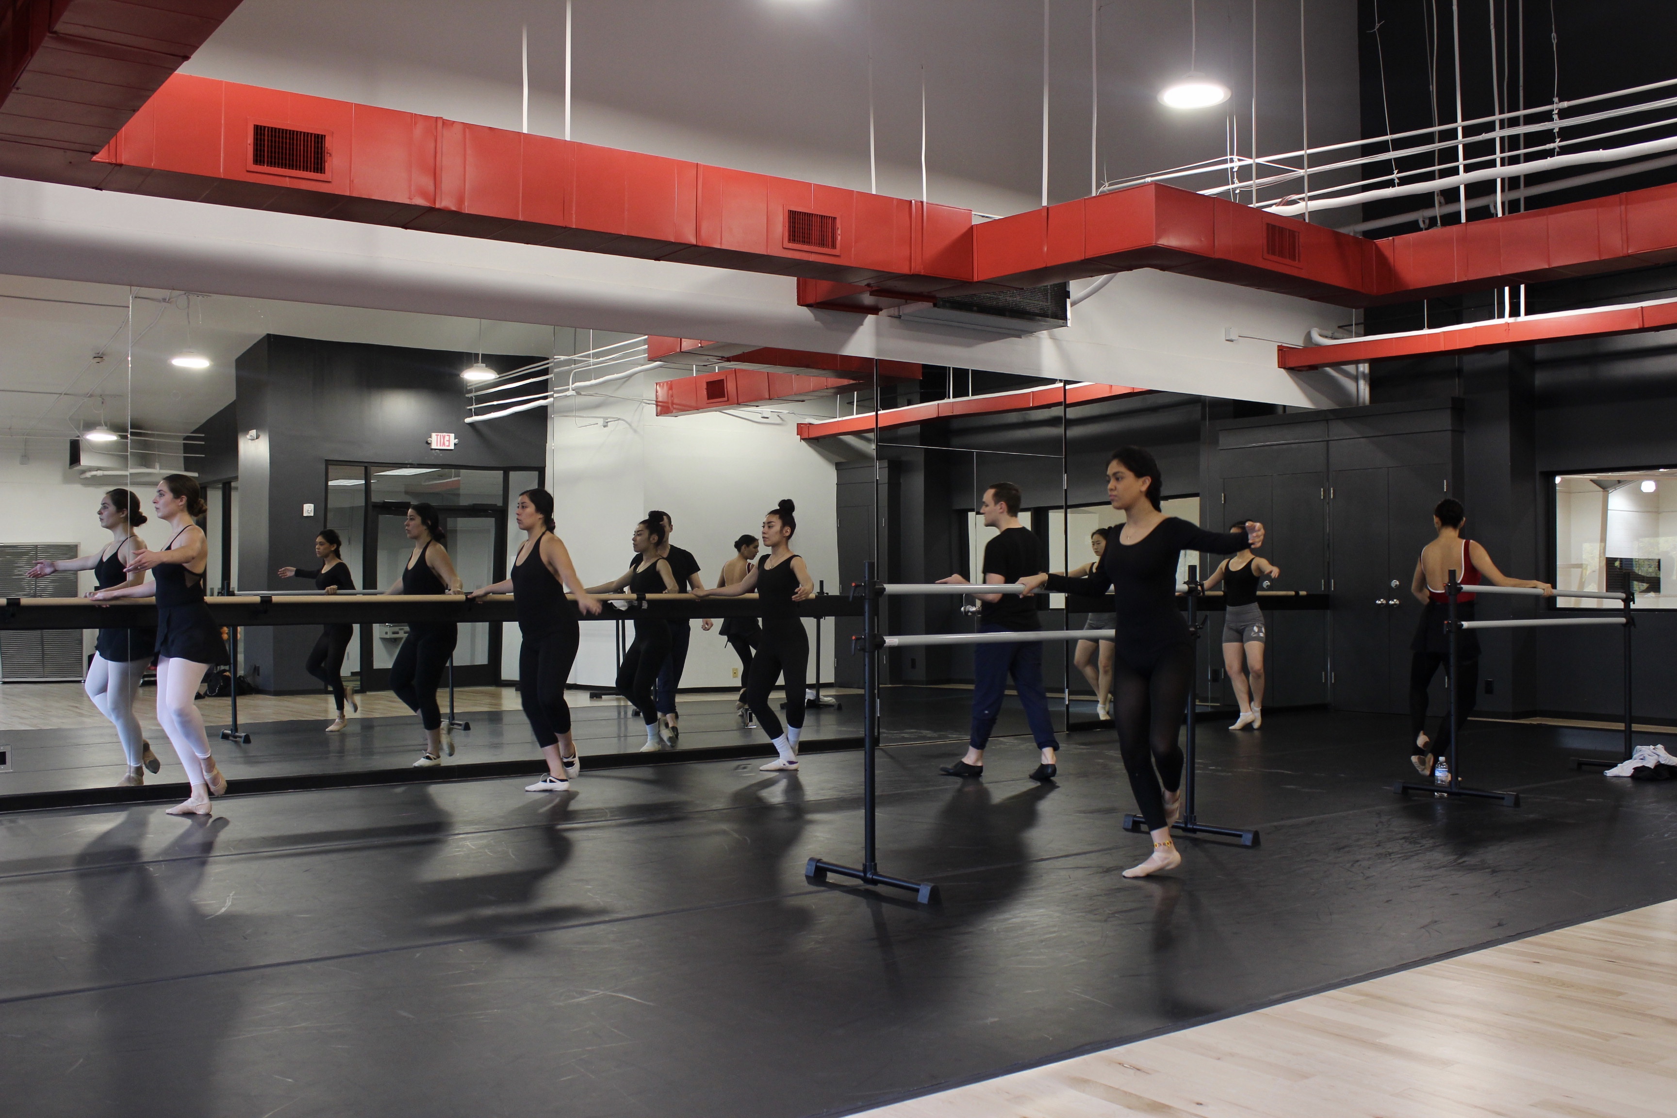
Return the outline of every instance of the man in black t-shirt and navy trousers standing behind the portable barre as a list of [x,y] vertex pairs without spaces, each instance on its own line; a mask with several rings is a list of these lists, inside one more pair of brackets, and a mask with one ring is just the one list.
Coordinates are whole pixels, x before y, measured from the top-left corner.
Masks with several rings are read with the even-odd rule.
[[[1041,543],[1036,533],[1020,523],[1020,488],[1010,481],[998,481],[984,489],[984,503],[978,511],[984,518],[986,528],[996,528],[996,538],[984,545],[984,582],[1018,583],[1028,575],[1041,573]],[[941,578],[946,583],[964,583],[961,575]],[[1036,620],[1036,602],[1020,593],[976,593],[981,605],[978,612],[979,632],[1026,632],[1041,629]],[[1001,714],[1001,702],[1008,694],[1008,675],[1020,692],[1025,706],[1025,721],[1030,722],[1036,748],[1041,749],[1041,764],[1031,773],[1031,779],[1053,779],[1055,749],[1060,743],[1053,736],[1053,722],[1048,717],[1048,696],[1043,691],[1043,645],[1040,640],[996,642],[973,645],[973,734],[966,756],[954,764],[942,766],[948,776],[983,776],[984,744],[989,731]]]

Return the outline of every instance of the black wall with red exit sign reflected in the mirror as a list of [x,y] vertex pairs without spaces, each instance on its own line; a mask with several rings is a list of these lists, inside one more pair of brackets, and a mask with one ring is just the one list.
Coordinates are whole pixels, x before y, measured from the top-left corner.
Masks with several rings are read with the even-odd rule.
[[[245,350],[235,364],[238,587],[282,588],[275,570],[314,562],[314,536],[325,523],[327,461],[540,469],[547,461],[542,409],[463,422],[459,370],[475,357],[282,335]],[[485,354],[483,360],[506,370],[540,359]],[[248,431],[258,437],[247,439]],[[429,449],[433,431],[456,432],[459,449]],[[302,515],[305,503],[315,516]],[[304,672],[315,635],[307,627],[247,630],[247,675],[267,692],[319,691]]]

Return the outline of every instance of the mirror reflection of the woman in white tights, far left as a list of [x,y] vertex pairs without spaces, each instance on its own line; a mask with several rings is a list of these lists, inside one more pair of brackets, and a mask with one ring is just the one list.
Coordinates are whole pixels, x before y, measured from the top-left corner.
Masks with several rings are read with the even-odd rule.
[[[146,582],[146,572],[129,575],[122,568],[132,562],[136,550],[146,546],[146,541],[134,533],[143,523],[146,515],[139,511],[139,498],[127,489],[111,489],[99,501],[99,526],[111,533],[109,546],[99,555],[42,560],[29,568],[29,577],[45,578],[67,570],[91,570],[96,590],[138,587]],[[127,774],[117,781],[117,788],[138,788],[146,783],[146,769],[156,773],[163,768],[134,716],[134,699],[139,696],[139,684],[156,644],[158,634],[153,629],[101,629],[94,642],[94,659],[87,665],[87,679],[82,681],[87,697],[111,719],[122,743]]]

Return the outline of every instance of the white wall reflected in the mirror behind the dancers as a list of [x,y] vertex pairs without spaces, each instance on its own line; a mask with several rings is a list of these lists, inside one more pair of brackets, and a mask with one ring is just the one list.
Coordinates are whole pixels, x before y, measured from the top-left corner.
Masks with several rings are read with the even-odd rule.
[[[798,505],[797,551],[810,575],[838,588],[837,481],[832,463],[797,434],[798,412],[832,416],[832,399],[776,401],[771,422],[723,412],[654,416],[646,374],[600,396],[555,404],[548,489],[558,535],[589,585],[627,570],[629,538],[647,510],[676,521],[672,541],[693,551],[701,578],[716,585],[733,541],[756,533],[781,498]],[[610,391],[614,389],[614,391]],[[807,622],[813,642],[813,624]],[[610,686],[615,675],[612,625],[582,625],[582,650],[570,682]],[[629,634],[632,639],[632,630]],[[822,679],[832,679],[832,625],[823,625]],[[813,644],[812,644],[813,647]],[[740,686],[738,659],[716,634],[694,622],[684,687]]]

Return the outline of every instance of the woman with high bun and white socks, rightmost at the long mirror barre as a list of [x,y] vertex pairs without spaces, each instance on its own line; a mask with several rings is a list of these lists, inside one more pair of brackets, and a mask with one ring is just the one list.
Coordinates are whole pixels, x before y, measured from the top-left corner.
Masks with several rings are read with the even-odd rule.
[[[746,701],[756,714],[756,724],[775,743],[780,754],[761,766],[765,773],[781,773],[798,768],[798,738],[803,734],[805,675],[810,664],[810,637],[793,602],[803,602],[815,593],[815,582],[802,555],[792,551],[792,535],[798,530],[797,506],[781,501],[763,516],[763,546],[768,555],[758,560],[745,578],[726,588],[701,590],[698,597],[736,598],[756,592],[763,615],[763,634],[751,657],[751,675],[746,681]],[[775,681],[787,681],[787,727],[768,696]]]

